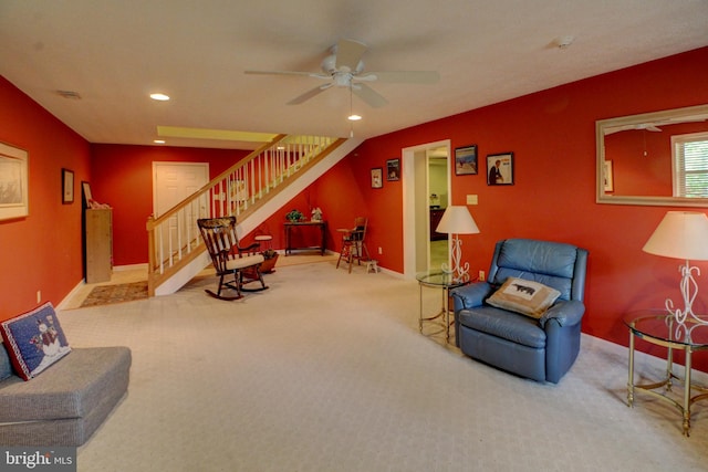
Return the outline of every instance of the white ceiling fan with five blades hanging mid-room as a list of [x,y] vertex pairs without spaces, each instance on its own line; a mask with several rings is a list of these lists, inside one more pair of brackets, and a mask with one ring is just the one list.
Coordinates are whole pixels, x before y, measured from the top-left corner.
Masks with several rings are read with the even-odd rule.
[[350,91],[377,108],[388,102],[379,93],[369,87],[367,82],[388,82],[408,84],[435,84],[440,80],[436,71],[391,71],[391,72],[366,72],[364,73],[364,61],[362,56],[367,48],[364,43],[354,40],[340,40],[330,48],[330,55],[322,60],[322,72],[296,72],[296,71],[244,71],[247,74],[259,75],[301,75],[327,81],[304,94],[288,102],[288,105],[299,105],[315,97],[322,92],[333,86],[347,87]]

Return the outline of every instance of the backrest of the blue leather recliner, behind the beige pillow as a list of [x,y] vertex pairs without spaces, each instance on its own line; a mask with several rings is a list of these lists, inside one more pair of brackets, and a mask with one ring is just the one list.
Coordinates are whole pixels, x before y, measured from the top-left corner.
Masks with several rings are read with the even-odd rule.
[[497,242],[489,269],[489,282],[501,285],[512,277],[551,286],[561,300],[583,301],[587,251],[572,244],[508,239]]

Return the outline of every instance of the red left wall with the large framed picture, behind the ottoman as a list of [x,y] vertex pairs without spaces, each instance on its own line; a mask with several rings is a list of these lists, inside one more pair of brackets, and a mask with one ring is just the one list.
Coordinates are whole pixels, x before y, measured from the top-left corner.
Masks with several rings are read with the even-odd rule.
[[[90,148],[81,136],[0,76],[0,140],[29,151],[30,216],[0,221],[0,319],[61,302],[83,279],[81,189]],[[62,204],[62,168],[74,202]]]

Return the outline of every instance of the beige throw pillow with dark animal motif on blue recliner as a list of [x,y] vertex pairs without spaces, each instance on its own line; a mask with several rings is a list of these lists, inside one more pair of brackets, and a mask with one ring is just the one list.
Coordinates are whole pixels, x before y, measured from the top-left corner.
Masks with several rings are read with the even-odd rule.
[[487,303],[498,308],[540,318],[561,295],[555,289],[524,279],[509,277]]

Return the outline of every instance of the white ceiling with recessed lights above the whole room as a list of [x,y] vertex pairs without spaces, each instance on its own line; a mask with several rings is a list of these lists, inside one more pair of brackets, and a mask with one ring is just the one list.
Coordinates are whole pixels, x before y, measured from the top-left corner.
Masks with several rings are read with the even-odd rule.
[[369,138],[708,45],[708,1],[0,1],[0,74],[91,143],[152,144],[158,126],[348,136],[346,88],[285,105],[320,82],[243,73],[320,72],[340,39],[367,44],[366,71],[440,73],[435,85],[372,83],[382,108],[354,97],[354,134]]

